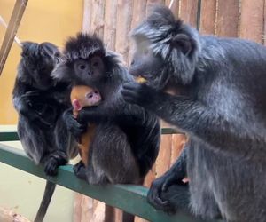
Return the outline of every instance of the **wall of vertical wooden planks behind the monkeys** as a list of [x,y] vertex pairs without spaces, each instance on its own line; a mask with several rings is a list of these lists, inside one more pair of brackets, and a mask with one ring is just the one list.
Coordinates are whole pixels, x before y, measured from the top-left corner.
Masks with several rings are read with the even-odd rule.
[[[174,0],[171,10],[176,17],[197,27],[199,0]],[[242,37],[264,44],[266,0],[202,0],[200,33],[204,35]],[[170,4],[170,0],[84,0],[84,32],[97,33],[106,47],[120,52],[126,64],[130,60],[129,31],[145,19],[153,4]],[[266,44],[266,43],[265,43]],[[160,155],[145,180],[150,186],[176,161],[185,143],[183,135],[164,135]],[[90,209],[88,209],[90,205]],[[82,207],[83,206],[83,207]],[[78,195],[74,221],[103,221],[104,206]],[[142,221],[137,218],[137,221]],[[120,221],[120,215],[116,218]]]

